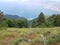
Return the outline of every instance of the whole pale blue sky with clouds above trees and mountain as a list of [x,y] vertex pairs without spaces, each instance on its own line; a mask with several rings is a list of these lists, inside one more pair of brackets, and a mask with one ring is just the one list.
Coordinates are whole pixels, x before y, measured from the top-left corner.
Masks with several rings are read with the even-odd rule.
[[0,10],[4,14],[33,19],[40,12],[47,16],[60,14],[60,0],[0,0]]

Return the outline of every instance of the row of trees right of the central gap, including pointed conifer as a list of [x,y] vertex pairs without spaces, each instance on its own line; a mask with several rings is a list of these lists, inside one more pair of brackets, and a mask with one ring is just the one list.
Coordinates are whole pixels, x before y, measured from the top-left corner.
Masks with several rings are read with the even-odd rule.
[[35,20],[32,21],[33,27],[59,27],[60,26],[60,14],[53,14],[51,16],[45,16],[41,12]]

